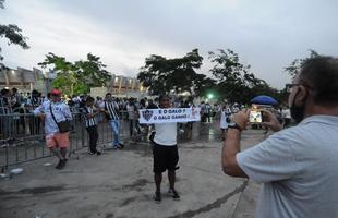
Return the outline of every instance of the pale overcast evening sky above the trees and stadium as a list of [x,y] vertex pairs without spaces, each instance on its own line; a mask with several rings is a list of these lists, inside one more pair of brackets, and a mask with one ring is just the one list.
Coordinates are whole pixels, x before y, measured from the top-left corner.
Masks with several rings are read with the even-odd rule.
[[32,69],[48,52],[70,61],[88,52],[114,74],[136,76],[150,55],[182,57],[194,48],[232,49],[273,87],[309,49],[338,52],[336,0],[7,0],[1,24],[17,24],[31,49],[0,39],[4,64]]

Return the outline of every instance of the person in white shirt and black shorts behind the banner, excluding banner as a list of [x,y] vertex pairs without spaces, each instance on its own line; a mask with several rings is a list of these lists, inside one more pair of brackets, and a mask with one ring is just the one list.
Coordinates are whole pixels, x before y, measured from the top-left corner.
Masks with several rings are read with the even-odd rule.
[[[159,97],[160,108],[170,108],[170,98],[168,96]],[[162,181],[162,172],[168,170],[169,191],[168,193],[173,199],[179,199],[180,195],[174,189],[176,169],[179,161],[179,153],[177,146],[178,124],[174,123],[155,123],[155,136],[153,140],[153,157],[154,157],[154,179],[156,191],[154,199],[156,203],[161,201],[160,183]]]

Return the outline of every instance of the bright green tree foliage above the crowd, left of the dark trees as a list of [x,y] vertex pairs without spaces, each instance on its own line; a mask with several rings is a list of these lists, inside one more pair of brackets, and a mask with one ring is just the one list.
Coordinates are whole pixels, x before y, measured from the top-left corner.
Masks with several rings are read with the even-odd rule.
[[43,68],[52,65],[57,72],[57,78],[52,82],[53,87],[61,88],[68,95],[79,95],[88,93],[90,87],[106,86],[107,81],[110,81],[111,75],[99,59],[88,53],[87,60],[72,63],[63,57],[49,52],[38,65]]

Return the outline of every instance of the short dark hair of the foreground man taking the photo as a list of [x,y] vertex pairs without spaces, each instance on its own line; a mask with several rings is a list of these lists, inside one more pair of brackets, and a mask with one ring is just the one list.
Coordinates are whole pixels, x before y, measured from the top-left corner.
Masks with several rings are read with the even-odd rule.
[[314,94],[314,102],[338,106],[338,59],[319,56],[304,61],[300,80],[307,83]]

